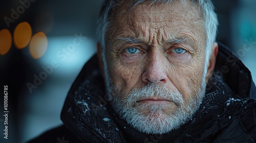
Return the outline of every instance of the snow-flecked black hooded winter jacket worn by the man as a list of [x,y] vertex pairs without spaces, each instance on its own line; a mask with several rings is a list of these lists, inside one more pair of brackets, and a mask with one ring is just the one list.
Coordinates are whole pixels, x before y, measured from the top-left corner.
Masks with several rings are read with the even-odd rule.
[[[222,82],[223,81],[223,82]],[[84,65],[61,112],[64,125],[33,142],[256,142],[256,88],[251,73],[219,43],[215,74],[198,111],[180,129],[163,135],[135,130],[112,111],[97,57]]]

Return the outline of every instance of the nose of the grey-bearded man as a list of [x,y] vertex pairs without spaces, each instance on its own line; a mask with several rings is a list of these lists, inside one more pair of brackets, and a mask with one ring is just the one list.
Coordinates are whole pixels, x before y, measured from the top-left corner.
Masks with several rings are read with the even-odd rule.
[[142,81],[145,83],[161,83],[167,82],[166,65],[164,64],[165,57],[160,53],[152,54],[148,58],[148,64],[146,64],[146,70],[142,74]]

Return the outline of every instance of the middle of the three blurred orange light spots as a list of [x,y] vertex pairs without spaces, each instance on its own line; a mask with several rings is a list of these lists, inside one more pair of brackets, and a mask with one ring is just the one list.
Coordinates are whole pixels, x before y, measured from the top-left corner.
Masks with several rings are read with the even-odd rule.
[[13,34],[13,41],[17,49],[23,49],[29,44],[32,29],[28,22],[22,22],[17,25]]

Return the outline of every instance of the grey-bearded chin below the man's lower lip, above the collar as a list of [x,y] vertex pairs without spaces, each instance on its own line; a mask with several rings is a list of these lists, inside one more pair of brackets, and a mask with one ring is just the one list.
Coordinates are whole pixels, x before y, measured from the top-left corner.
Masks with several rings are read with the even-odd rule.
[[179,110],[166,114],[161,110],[143,114],[136,109],[123,110],[121,118],[132,127],[146,134],[164,134],[179,128],[187,121],[187,114]]

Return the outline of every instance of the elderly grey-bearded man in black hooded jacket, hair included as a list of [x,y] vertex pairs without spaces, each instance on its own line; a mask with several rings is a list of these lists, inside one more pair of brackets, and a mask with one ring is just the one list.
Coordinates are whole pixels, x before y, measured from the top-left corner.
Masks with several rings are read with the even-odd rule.
[[255,85],[217,25],[209,0],[105,1],[64,126],[31,142],[256,141]]

